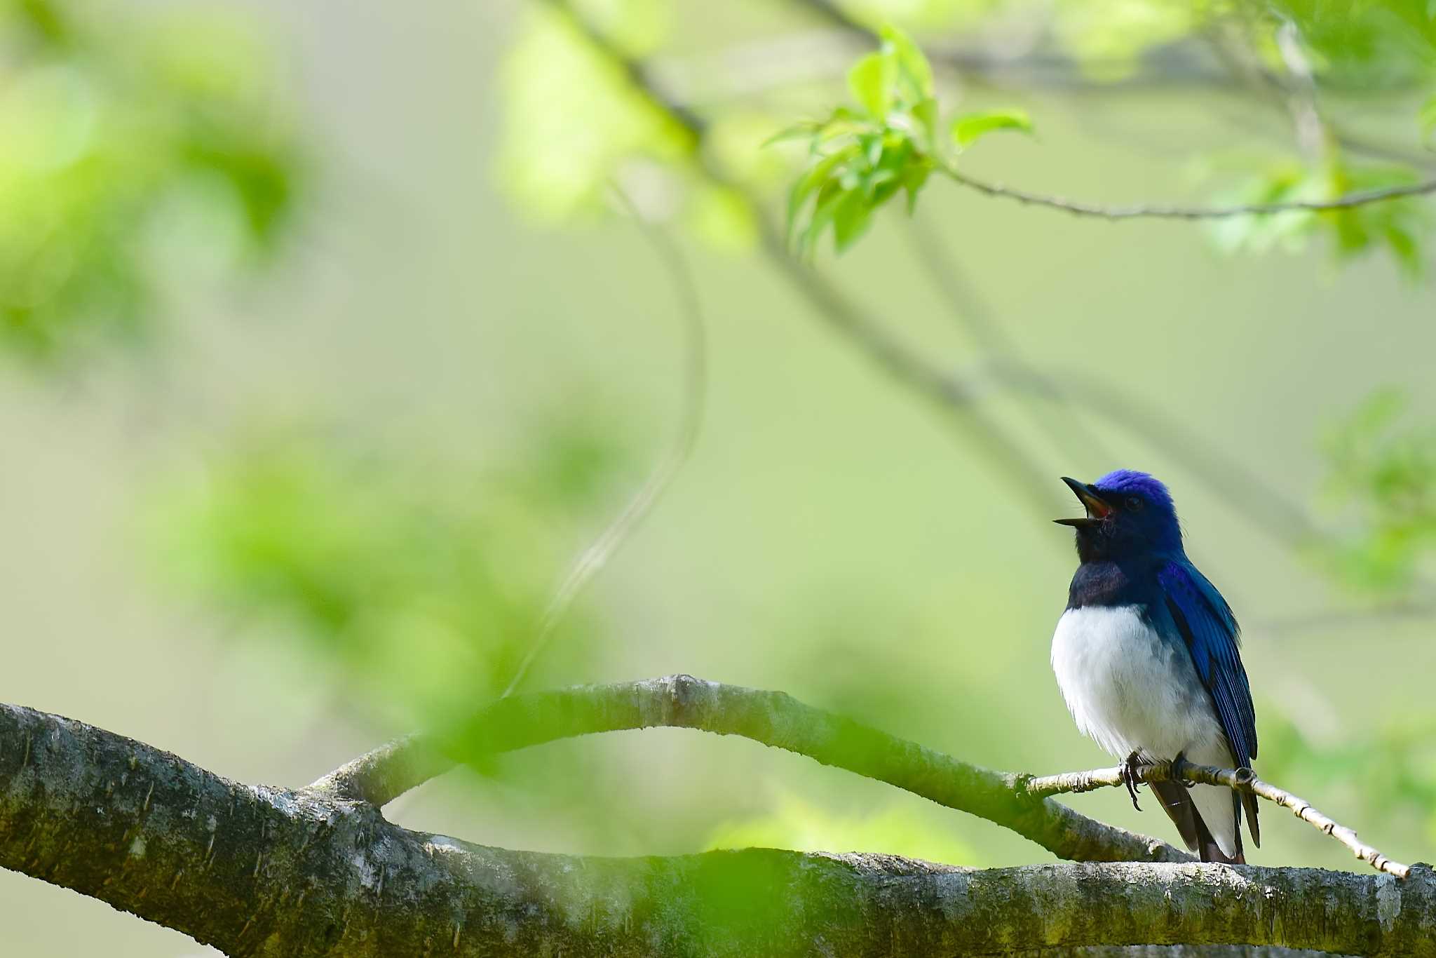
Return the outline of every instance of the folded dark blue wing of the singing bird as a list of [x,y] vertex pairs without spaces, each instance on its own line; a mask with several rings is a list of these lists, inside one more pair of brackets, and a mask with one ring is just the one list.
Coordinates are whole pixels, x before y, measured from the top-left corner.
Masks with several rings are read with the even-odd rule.
[[1236,651],[1241,645],[1236,616],[1216,586],[1185,557],[1169,562],[1157,580],[1196,671],[1212,694],[1222,731],[1236,753],[1234,758],[1238,766],[1249,766],[1256,757],[1256,712]]

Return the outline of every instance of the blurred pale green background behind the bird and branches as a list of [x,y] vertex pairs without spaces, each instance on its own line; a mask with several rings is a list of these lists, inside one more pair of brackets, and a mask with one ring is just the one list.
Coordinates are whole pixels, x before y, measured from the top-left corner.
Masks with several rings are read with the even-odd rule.
[[[981,53],[939,69],[949,108],[1028,111],[1037,136],[984,141],[964,157],[976,174],[1205,203],[1274,195],[1292,169],[1330,188],[1436,168],[1417,119],[1436,27],[1423,4],[1371,6],[1346,32],[1302,4],[1278,23],[1241,4],[850,10]],[[712,122],[702,155],[773,211],[801,151],[760,144],[846,99],[863,50],[801,3],[579,7]],[[989,767],[1106,766],[1048,668],[1076,559],[1045,518],[1074,508],[1058,475],[1143,468],[1245,625],[1258,771],[1397,859],[1436,855],[1429,201],[1402,207],[1407,250],[1384,213],[1111,224],[929,185],[922,227],[1011,348],[1120,396],[1113,417],[982,378],[981,408],[1034,464],[1015,475],[836,336],[686,138],[551,11],[14,0],[0,23],[0,699],[300,786],[500,694],[692,386],[681,280],[607,198],[616,181],[691,263],[702,428],[521,688],[689,672]],[[1317,155],[1292,132],[1282,23],[1315,65]],[[1274,101],[1244,63],[1297,79]],[[981,369],[908,230],[885,210],[816,267],[929,362]],[[1269,536],[1268,497],[1188,434],[1334,536]],[[1175,837],[1119,790],[1071,803]],[[540,850],[1045,857],[890,787],[672,730],[481,763],[389,814]],[[1354,865],[1275,810],[1262,836],[1254,863]],[[0,925],[6,955],[201,951],[10,873]]]

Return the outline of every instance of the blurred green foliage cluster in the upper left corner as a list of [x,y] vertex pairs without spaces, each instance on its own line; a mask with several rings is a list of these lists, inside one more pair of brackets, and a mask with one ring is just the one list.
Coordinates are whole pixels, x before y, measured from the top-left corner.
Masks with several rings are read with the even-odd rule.
[[269,257],[299,175],[276,79],[223,9],[0,4],[0,342],[142,338],[167,279]]

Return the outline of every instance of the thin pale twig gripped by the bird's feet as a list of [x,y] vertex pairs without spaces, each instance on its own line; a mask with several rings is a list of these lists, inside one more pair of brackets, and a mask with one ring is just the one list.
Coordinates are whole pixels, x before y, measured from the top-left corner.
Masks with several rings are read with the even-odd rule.
[[[1047,799],[1058,794],[1126,786],[1123,774],[1124,770],[1120,766],[1116,768],[1094,768],[1091,771],[1067,771],[1058,776],[1028,778],[1025,789],[1034,797]],[[1236,791],[1267,799],[1285,809],[1291,809],[1292,814],[1298,819],[1351,849],[1353,855],[1367,862],[1377,872],[1387,872],[1396,878],[1407,878],[1412,873],[1410,865],[1402,865],[1386,857],[1381,852],[1357,839],[1354,830],[1323,814],[1305,799],[1278,789],[1269,781],[1262,781],[1251,768],[1218,768],[1216,766],[1193,766],[1189,761],[1183,761],[1179,767],[1175,767],[1175,763],[1162,761],[1143,766],[1137,777],[1142,781],[1192,781],[1206,786],[1226,786]]]

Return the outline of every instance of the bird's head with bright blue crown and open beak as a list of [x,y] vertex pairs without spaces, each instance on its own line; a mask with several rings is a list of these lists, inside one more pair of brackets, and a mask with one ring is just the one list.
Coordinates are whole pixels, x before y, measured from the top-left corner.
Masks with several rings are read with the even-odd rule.
[[1146,473],[1116,470],[1096,483],[1078,483],[1066,475],[1063,481],[1081,500],[1087,514],[1054,521],[1077,530],[1077,556],[1083,562],[1180,552],[1182,529],[1172,494]]

